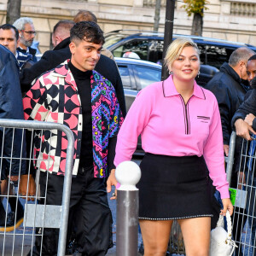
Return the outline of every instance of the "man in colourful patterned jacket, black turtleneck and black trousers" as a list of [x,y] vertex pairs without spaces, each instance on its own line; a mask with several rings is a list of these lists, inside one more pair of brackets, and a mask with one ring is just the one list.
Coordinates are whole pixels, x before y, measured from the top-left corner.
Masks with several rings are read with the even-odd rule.
[[[73,131],[68,232],[75,219],[75,253],[100,256],[113,244],[112,216],[103,177],[114,168],[116,136],[123,118],[113,85],[94,70],[104,43],[101,28],[94,22],[81,21],[73,26],[70,38],[71,60],[39,77],[23,104],[26,119],[61,123]],[[44,160],[37,163],[40,189],[45,191],[49,173],[46,204],[61,205],[67,137],[61,132],[51,137],[44,132],[42,137],[38,155]],[[56,255],[55,233],[54,229],[44,229],[42,251],[41,239],[36,239],[32,255]]]

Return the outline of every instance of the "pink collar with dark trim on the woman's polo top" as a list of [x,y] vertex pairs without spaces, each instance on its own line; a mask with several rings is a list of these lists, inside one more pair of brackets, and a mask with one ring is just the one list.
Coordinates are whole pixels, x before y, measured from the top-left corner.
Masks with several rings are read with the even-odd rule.
[[[172,75],[170,75],[168,79],[163,81],[162,86],[163,86],[163,93],[164,93],[165,97],[179,95],[179,93],[176,90],[175,85],[173,84]],[[206,96],[205,96],[201,86],[196,84],[196,82],[194,82],[193,95],[198,97],[198,98],[201,98],[203,100],[206,99]]]

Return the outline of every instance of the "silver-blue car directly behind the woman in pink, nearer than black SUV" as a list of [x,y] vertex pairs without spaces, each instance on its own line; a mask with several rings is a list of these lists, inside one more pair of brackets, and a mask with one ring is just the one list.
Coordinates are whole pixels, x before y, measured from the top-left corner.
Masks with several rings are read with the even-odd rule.
[[[126,110],[128,111],[137,93],[148,84],[161,80],[162,66],[150,61],[142,61],[130,58],[114,58],[125,90]],[[218,68],[201,65],[200,75],[196,81],[201,86],[207,84],[212,76],[218,72]]]

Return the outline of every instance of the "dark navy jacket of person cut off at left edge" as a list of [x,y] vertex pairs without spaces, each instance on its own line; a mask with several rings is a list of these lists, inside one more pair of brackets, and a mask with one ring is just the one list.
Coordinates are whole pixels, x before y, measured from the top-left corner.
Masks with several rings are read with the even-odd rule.
[[[9,49],[0,45],[0,119],[24,119],[22,98],[19,83],[19,66]],[[0,125],[1,126],[1,125]],[[3,137],[4,133],[4,137]],[[3,141],[4,139],[4,141]],[[20,160],[9,160],[10,156],[20,159],[22,131],[0,128],[0,152],[3,149],[2,172],[9,173],[11,163],[11,175],[19,175]],[[23,137],[25,141],[25,138]],[[3,148],[2,148],[3,145]],[[25,147],[25,145],[24,145]],[[26,150],[22,150],[22,158],[26,156]],[[21,163],[21,174],[25,172],[26,163]]]

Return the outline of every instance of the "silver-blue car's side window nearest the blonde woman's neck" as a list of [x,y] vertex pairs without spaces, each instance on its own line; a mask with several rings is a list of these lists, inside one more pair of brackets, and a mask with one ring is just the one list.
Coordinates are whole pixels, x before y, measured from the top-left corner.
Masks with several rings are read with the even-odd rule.
[[143,89],[148,84],[152,84],[154,82],[159,82],[161,79],[161,70],[150,68],[150,67],[142,67],[142,66],[135,66],[137,70],[137,76],[140,81],[140,88]]

